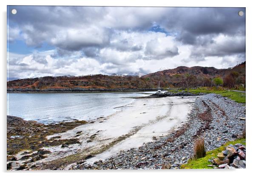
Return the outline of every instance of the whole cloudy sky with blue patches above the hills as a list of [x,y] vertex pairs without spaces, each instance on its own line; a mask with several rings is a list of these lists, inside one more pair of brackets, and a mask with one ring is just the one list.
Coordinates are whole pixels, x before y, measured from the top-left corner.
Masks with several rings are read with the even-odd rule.
[[238,11],[245,8],[9,6],[9,77],[233,67],[245,61]]

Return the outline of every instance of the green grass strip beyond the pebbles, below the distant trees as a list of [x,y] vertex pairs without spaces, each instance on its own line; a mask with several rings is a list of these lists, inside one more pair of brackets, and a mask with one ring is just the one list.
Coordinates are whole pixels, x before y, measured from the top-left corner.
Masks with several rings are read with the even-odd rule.
[[[170,92],[181,92],[182,90],[170,90]],[[199,87],[197,89],[185,89],[185,92],[191,93],[215,93],[222,95],[223,97],[230,98],[237,103],[245,103],[245,93],[228,91],[224,88],[213,88],[213,87]]]

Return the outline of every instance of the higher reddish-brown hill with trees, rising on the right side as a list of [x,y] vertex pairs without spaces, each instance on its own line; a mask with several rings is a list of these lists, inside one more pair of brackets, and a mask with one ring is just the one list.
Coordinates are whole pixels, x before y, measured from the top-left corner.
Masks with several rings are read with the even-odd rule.
[[235,87],[238,84],[245,84],[245,66],[246,62],[228,69],[181,66],[150,73],[142,76],[142,79],[150,80],[154,85],[160,81],[160,87],[210,87],[213,86],[213,78],[220,77],[224,80],[225,87]]

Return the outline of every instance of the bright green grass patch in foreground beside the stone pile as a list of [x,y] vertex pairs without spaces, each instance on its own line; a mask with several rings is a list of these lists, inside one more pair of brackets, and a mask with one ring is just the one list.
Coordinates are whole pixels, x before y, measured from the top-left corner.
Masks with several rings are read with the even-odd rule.
[[217,158],[218,153],[222,152],[225,150],[225,147],[230,145],[230,144],[236,144],[236,143],[241,143],[243,145],[246,145],[246,139],[242,138],[242,139],[237,139],[234,141],[229,141],[226,142],[225,145],[222,145],[219,148],[216,148],[212,151],[207,151],[206,152],[206,156],[203,158],[199,158],[199,159],[189,159],[187,164],[181,165],[181,169],[212,169],[213,167],[207,166],[207,165],[211,165],[212,163],[210,163],[208,161],[208,159],[211,159],[212,157]]

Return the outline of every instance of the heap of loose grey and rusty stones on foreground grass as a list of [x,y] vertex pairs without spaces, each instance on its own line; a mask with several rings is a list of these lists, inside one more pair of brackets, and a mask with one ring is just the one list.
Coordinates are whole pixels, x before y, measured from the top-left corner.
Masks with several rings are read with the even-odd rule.
[[218,158],[211,160],[218,168],[246,168],[245,145],[228,145],[224,151],[217,155]]

